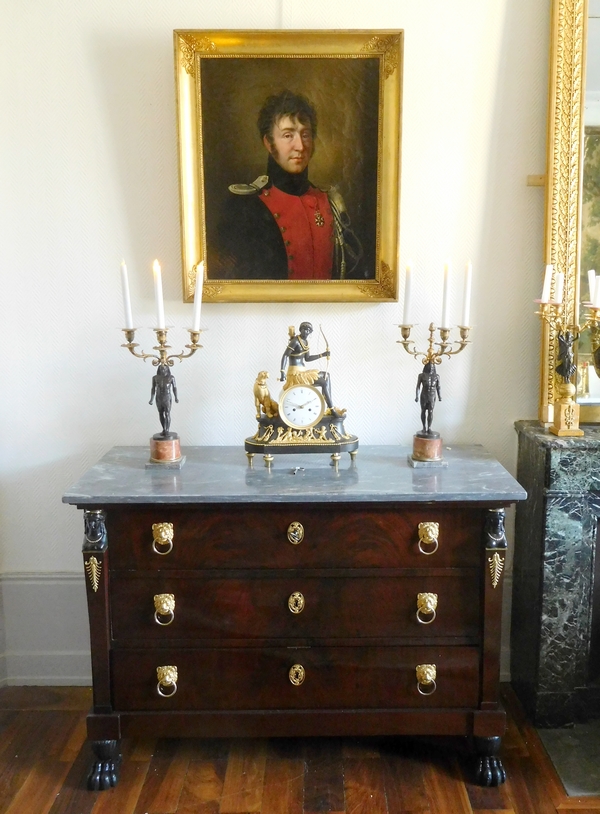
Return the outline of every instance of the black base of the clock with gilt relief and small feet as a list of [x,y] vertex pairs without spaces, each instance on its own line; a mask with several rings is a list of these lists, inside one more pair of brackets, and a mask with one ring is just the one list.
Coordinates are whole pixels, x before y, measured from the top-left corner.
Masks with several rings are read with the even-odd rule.
[[289,427],[278,416],[262,416],[258,429],[251,438],[246,438],[244,449],[248,454],[282,455],[290,453],[325,452],[332,455],[349,452],[352,456],[358,449],[358,438],[350,435],[344,427],[344,419],[325,415],[318,424],[309,429]]

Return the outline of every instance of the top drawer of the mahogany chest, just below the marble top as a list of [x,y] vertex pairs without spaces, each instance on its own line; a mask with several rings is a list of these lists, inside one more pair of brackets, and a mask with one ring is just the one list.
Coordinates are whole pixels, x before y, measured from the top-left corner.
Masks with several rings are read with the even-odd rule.
[[[163,523],[173,539],[155,544],[152,527]],[[422,523],[438,524],[436,543],[420,543]],[[482,529],[481,509],[426,504],[163,504],[107,513],[118,570],[476,566]]]

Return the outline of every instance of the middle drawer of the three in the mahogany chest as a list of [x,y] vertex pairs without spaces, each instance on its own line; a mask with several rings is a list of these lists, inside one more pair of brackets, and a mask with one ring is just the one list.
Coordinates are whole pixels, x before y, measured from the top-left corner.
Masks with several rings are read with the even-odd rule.
[[[475,638],[479,633],[478,573],[466,569],[457,575],[411,577],[283,577],[271,572],[254,578],[199,579],[119,574],[111,581],[111,592],[112,635],[123,642]],[[154,600],[165,594],[173,605],[167,613],[160,600]]]

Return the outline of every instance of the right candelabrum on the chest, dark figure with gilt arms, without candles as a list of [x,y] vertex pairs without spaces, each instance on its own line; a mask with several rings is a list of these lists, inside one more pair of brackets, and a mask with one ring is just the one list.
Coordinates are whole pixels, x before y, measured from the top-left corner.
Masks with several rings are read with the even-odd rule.
[[[470,343],[467,325],[459,325],[460,339],[450,340],[450,328],[436,328],[434,323],[429,325],[429,344],[427,350],[417,350],[415,342],[410,338],[413,325],[399,325],[402,339],[398,344],[402,345],[407,353],[423,363],[423,371],[417,378],[415,401],[420,401],[422,429],[413,436],[412,455],[408,456],[411,466],[445,466],[446,462],[442,457],[443,441],[439,432],[431,429],[433,422],[433,410],[437,399],[442,400],[440,377],[436,365],[442,363],[444,356],[456,356],[463,351]],[[435,333],[439,331],[439,341],[435,341]],[[457,347],[455,347],[457,346]]]

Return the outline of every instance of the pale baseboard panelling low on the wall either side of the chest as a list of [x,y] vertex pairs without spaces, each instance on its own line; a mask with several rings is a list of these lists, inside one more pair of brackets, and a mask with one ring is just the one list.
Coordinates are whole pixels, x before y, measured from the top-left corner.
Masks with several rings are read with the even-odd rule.
[[[510,681],[510,595],[505,575],[500,680]],[[0,576],[0,686],[92,682],[83,574]]]

